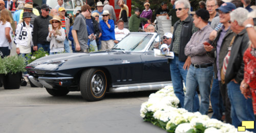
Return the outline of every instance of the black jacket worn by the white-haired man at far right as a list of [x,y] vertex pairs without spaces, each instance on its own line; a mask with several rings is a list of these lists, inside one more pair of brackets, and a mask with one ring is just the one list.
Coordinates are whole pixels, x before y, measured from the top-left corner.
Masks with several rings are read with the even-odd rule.
[[244,79],[243,56],[245,50],[248,48],[248,42],[249,37],[245,29],[241,31],[234,39],[225,74],[226,83],[230,82],[232,79],[235,79],[238,83],[241,83]]

